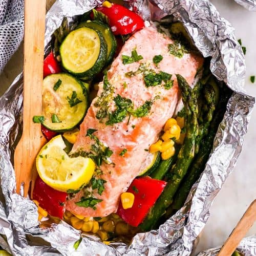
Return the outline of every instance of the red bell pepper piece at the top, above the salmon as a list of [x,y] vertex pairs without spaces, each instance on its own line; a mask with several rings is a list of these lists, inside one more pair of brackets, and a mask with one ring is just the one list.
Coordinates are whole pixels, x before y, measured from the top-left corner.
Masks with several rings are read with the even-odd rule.
[[115,35],[126,35],[144,27],[144,20],[127,8],[112,4],[110,8],[100,6],[97,11],[104,13],[110,20],[110,27]]

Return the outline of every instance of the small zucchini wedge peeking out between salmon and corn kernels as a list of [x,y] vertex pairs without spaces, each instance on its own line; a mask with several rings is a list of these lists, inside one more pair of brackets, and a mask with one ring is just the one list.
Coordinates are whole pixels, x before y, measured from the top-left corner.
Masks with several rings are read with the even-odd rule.
[[161,153],[148,154],[145,162],[140,167],[140,174],[138,176],[148,176],[154,172],[161,160]]

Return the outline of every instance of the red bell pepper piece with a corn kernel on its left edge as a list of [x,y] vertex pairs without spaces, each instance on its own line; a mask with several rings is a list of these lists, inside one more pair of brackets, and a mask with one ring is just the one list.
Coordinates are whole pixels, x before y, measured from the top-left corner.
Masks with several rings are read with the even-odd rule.
[[124,209],[119,203],[117,214],[131,226],[137,227],[146,217],[150,208],[161,195],[167,182],[152,179],[148,176],[134,179],[127,192],[134,194],[132,208]]

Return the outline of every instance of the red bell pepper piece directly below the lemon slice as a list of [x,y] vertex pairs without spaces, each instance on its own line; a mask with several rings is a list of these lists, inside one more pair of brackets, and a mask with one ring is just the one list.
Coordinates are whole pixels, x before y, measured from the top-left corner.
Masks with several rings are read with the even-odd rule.
[[45,209],[49,215],[63,218],[65,212],[66,192],[60,192],[48,186],[38,176],[33,190],[33,200],[39,202],[39,205]]

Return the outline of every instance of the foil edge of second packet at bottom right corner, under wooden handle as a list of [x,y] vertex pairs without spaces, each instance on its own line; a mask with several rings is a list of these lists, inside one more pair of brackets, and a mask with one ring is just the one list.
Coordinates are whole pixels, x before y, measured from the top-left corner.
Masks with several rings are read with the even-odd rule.
[[[220,249],[221,246],[208,249],[198,253],[197,256],[215,256],[218,255]],[[240,242],[237,251],[242,252],[244,256],[256,255],[256,236],[244,238]]]

